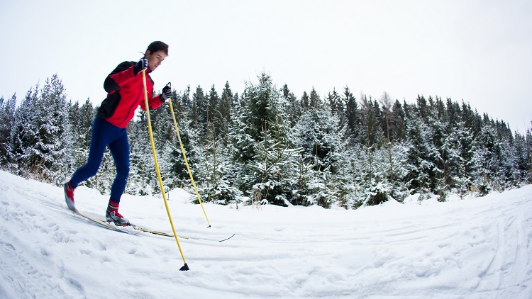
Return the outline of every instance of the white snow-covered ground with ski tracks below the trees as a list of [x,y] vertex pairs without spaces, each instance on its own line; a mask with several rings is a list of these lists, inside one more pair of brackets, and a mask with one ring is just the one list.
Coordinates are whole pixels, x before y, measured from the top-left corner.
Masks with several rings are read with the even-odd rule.
[[[107,196],[80,186],[103,217]],[[62,189],[0,171],[0,298],[532,298],[532,186],[446,203],[358,210],[188,203],[168,195],[178,235],[127,235],[67,210]],[[121,213],[171,232],[160,196]]]

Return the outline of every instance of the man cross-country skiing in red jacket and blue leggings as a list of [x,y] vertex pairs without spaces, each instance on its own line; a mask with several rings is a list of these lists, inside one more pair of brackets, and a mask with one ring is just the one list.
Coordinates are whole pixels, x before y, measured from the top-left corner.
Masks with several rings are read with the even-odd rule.
[[150,72],[160,66],[168,55],[168,45],[156,41],[148,46],[144,57],[138,62],[122,62],[106,77],[104,89],[107,97],[92,123],[91,143],[87,163],[79,167],[70,181],[63,184],[68,208],[77,211],[74,205],[74,189],[90,177],[96,175],[104,157],[106,147],[113,156],[116,176],[111,186],[111,196],[105,213],[108,222],[116,225],[131,225],[128,219],[118,213],[118,205],[129,175],[129,142],[126,127],[140,106],[145,110],[144,86],[141,72],[145,70],[146,88],[150,108],[157,108],[172,96],[170,86],[162,89],[162,94],[153,96],[153,80]]

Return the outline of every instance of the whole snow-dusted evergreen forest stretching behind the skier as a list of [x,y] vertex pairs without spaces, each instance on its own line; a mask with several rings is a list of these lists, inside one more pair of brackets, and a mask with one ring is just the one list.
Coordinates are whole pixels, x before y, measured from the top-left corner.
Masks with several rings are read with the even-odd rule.
[[[158,94],[158,93],[157,93]],[[102,98],[103,99],[103,98]],[[449,194],[484,196],[532,183],[532,131],[464,101],[423,96],[355,97],[346,86],[296,96],[262,73],[239,95],[197,86],[173,90],[172,104],[202,201],[227,205],[377,205]],[[67,100],[57,74],[23,98],[0,98],[0,167],[59,186],[87,161],[97,106]],[[168,103],[150,111],[165,191],[192,191]],[[128,125],[126,193],[160,195],[145,111]],[[109,193],[109,150],[85,186]],[[170,200],[172,198],[169,198]],[[197,200],[192,197],[192,200]]]

